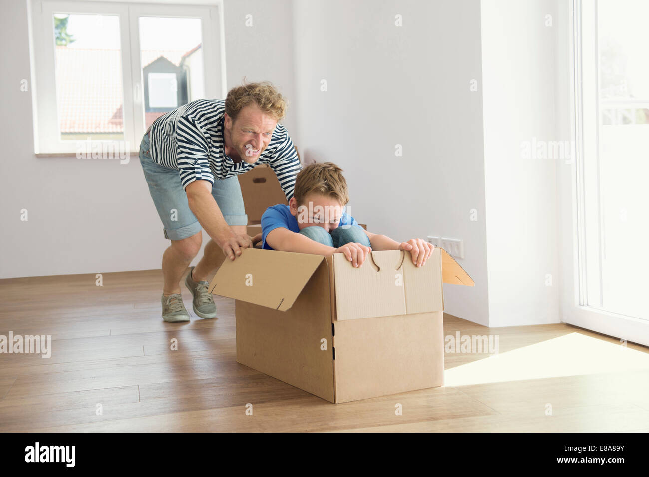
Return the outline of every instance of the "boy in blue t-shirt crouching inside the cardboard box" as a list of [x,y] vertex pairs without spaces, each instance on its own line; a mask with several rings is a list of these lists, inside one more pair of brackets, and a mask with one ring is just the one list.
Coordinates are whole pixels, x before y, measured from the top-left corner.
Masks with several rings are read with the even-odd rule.
[[302,169],[288,205],[273,205],[263,213],[262,248],[326,256],[344,253],[356,267],[372,250],[406,250],[415,265],[426,263],[432,244],[421,238],[397,242],[365,231],[345,213],[349,194],[342,172],[330,162]]

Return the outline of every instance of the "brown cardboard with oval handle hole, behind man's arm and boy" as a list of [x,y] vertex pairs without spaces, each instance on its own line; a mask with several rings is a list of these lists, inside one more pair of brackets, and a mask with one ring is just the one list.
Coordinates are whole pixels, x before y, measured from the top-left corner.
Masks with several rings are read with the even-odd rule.
[[261,224],[262,215],[268,207],[288,205],[277,176],[270,167],[259,165],[238,178],[249,225]]

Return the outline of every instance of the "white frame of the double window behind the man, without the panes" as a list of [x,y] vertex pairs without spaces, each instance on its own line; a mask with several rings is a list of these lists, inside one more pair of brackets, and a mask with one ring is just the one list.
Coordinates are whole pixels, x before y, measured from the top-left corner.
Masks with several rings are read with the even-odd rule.
[[[75,156],[77,143],[79,143],[79,140],[60,139],[56,95],[56,44],[54,22],[52,21],[53,16],[57,13],[104,14],[119,18],[124,137],[123,139],[93,140],[93,144],[102,144],[102,150],[137,152],[140,139],[145,133],[144,78],[140,58],[140,17],[200,19],[204,95],[206,98],[225,98],[225,44],[223,42],[223,16],[221,15],[223,3],[220,0],[215,0],[215,4],[212,6],[100,3],[71,0],[31,0],[31,2],[31,54],[34,65],[32,104],[34,153],[36,156]],[[126,141],[125,145],[121,144],[122,141]]]

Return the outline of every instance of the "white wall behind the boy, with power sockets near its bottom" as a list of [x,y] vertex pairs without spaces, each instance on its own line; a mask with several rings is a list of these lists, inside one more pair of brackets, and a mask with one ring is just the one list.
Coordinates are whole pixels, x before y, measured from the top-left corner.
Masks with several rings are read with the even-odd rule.
[[304,159],[342,167],[350,213],[370,231],[462,238],[459,262],[476,286],[446,285],[445,307],[486,325],[482,89],[469,88],[481,77],[479,1],[295,0],[294,8]]

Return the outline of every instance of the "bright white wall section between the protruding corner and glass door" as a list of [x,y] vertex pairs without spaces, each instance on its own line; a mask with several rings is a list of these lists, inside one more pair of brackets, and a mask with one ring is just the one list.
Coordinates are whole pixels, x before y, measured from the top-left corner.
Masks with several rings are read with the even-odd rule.
[[481,10],[489,326],[558,323],[563,161],[523,159],[521,141],[569,139],[557,136],[555,118],[565,16],[557,16],[556,0],[482,0]]

